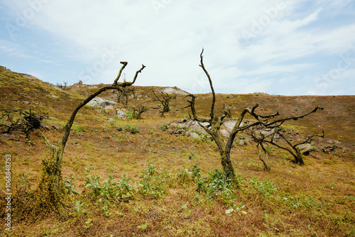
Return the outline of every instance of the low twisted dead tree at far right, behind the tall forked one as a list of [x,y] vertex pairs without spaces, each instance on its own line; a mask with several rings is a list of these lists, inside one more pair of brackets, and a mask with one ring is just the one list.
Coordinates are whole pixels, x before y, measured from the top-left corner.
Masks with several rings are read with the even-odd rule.
[[[288,138],[284,133],[282,128],[277,127],[273,130],[272,133],[268,134],[267,136],[264,136],[263,134],[259,133],[257,134],[256,131],[251,131],[250,135],[254,138],[254,140],[256,140],[256,142],[258,143],[258,146],[260,145],[261,148],[263,148],[263,143],[265,144],[271,144],[271,145],[275,145],[278,148],[281,148],[283,150],[287,150],[291,155],[293,155],[293,162],[295,162],[296,164],[299,165],[305,165],[305,161],[303,160],[303,155],[302,152],[300,151],[300,145],[303,145],[305,143],[310,143],[313,138],[315,137],[320,137],[320,138],[324,138],[324,130],[322,131],[322,134],[317,134],[317,133],[313,133],[312,135],[308,136],[306,140],[300,141],[298,143],[291,143],[290,138]],[[276,139],[275,136],[278,135],[280,138],[282,138],[282,140],[285,142],[285,144],[281,143],[280,139]],[[263,148],[264,153],[266,154],[266,160],[268,158],[268,152],[265,148]],[[259,158],[261,159],[261,151],[259,150]],[[263,162],[264,160],[261,159]],[[264,162],[265,165],[265,162]],[[267,166],[265,165],[266,170]],[[270,169],[269,169],[270,170]]]

